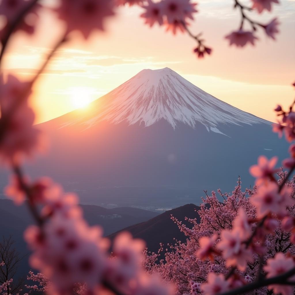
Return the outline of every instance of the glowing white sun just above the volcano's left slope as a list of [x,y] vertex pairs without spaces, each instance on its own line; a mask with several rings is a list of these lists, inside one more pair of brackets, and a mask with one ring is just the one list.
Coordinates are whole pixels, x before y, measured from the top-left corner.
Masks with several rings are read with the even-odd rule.
[[69,90],[70,101],[74,108],[86,108],[94,99],[94,91],[89,87],[72,87]]

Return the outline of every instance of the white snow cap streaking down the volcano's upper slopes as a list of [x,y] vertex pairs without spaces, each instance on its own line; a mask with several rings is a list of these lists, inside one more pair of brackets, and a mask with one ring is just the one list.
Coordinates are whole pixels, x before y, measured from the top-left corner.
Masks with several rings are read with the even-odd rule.
[[91,109],[90,115],[68,121],[63,127],[82,124],[87,129],[102,120],[114,124],[126,120],[129,124],[143,123],[144,126],[150,126],[165,119],[173,128],[178,122],[193,128],[196,122],[200,122],[208,131],[222,133],[218,128],[221,124],[268,123],[220,101],[170,68],[140,71],[94,101]]

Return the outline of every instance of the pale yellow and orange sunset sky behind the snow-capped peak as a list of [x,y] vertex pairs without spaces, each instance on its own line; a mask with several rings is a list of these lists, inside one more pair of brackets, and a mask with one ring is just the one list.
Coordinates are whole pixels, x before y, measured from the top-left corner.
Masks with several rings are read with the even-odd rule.
[[[106,22],[105,32],[84,41],[74,34],[50,61],[35,84],[30,104],[36,123],[61,116],[111,91],[145,68],[169,67],[204,91],[246,112],[275,121],[277,103],[288,106],[295,96],[295,1],[284,0],[272,13],[250,12],[253,19],[280,21],[276,41],[258,31],[255,47],[229,47],[224,36],[239,27],[239,14],[224,0],[201,0],[190,30],[203,33],[212,56],[199,60],[195,42],[173,36],[164,27],[144,25],[142,9],[125,7]],[[50,13],[40,18],[34,37],[14,35],[4,60],[7,73],[29,79],[63,32]]]

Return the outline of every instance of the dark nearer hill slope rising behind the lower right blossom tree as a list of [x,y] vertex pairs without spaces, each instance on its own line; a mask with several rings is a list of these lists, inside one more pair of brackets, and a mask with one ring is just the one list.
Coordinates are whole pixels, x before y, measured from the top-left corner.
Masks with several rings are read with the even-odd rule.
[[[127,230],[131,232],[133,237],[145,240],[149,251],[156,252],[159,249],[160,243],[163,243],[164,245],[167,245],[167,243],[174,244],[174,238],[182,242],[186,241],[186,235],[184,235],[184,233],[178,229],[178,226],[173,223],[170,214],[191,228],[192,225],[185,221],[185,217],[197,218],[197,222],[200,222],[199,214],[195,212],[195,209],[199,210],[200,207],[194,204],[186,204],[166,211],[148,221],[126,227],[120,231]],[[109,238],[113,240],[120,231],[109,235]]]

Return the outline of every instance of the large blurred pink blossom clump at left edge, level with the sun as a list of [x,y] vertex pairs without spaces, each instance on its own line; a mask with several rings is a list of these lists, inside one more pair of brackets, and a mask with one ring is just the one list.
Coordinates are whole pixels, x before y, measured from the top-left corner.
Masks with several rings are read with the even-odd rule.
[[0,154],[9,162],[19,162],[35,150],[44,149],[41,132],[33,126],[35,114],[28,106],[30,83],[9,75],[0,76],[0,125],[5,128],[0,142]]

